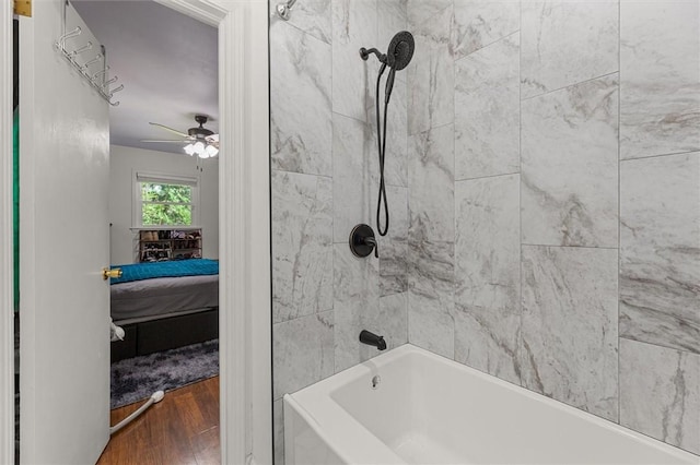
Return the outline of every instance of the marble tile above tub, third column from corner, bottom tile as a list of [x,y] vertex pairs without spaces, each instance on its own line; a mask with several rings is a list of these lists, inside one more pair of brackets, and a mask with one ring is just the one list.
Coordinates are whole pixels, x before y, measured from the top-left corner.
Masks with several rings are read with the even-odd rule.
[[523,386],[618,420],[617,250],[523,246]]

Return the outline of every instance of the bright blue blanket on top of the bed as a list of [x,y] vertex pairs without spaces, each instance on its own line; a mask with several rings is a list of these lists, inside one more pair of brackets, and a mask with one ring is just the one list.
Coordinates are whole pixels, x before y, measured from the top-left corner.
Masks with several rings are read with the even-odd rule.
[[129,283],[131,281],[152,279],[155,277],[219,274],[219,261],[209,259],[133,263],[128,265],[113,265],[112,267],[121,269],[122,274],[121,277],[113,277],[109,284]]

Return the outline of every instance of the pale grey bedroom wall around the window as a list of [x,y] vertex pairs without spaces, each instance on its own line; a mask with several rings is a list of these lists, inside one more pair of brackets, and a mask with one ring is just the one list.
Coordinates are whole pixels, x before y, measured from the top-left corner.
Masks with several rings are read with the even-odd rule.
[[113,264],[132,263],[135,234],[131,231],[133,170],[174,176],[200,177],[200,223],[202,257],[219,258],[219,162],[201,160],[203,171],[187,155],[112,145],[109,157],[110,260]]

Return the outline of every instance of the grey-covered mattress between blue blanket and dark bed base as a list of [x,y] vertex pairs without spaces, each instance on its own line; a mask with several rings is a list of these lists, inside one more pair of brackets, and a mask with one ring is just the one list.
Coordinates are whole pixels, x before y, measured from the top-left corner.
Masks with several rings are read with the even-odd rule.
[[219,306],[219,275],[159,277],[113,284],[112,319],[158,319]]

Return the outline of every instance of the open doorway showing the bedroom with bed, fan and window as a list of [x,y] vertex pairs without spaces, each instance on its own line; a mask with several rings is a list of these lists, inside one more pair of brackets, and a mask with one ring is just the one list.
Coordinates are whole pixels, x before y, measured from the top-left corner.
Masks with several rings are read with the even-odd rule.
[[[98,463],[192,462],[202,454],[214,463],[218,31],[148,0],[72,0],[67,8],[103,47],[102,79],[125,86],[109,107],[110,264],[122,273],[109,285],[119,333],[110,344],[110,424],[165,392],[138,421],[113,432]],[[80,49],[86,40],[66,44]]]

